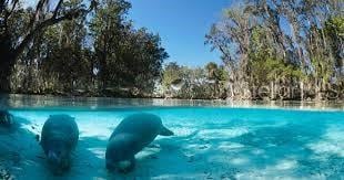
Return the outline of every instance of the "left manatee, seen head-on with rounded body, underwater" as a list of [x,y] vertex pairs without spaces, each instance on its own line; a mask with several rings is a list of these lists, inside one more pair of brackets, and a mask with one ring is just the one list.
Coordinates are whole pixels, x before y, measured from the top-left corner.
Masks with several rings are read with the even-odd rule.
[[79,129],[73,117],[51,115],[44,123],[40,144],[54,174],[61,174],[70,169],[71,153],[78,140]]

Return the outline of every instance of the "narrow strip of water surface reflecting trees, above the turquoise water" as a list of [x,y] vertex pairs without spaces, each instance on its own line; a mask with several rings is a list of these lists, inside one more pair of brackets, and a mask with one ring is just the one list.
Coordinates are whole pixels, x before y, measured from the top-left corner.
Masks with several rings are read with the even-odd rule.
[[[184,85],[185,86],[185,85]],[[184,88],[184,87],[183,87]],[[182,89],[183,89],[182,88]],[[0,109],[7,108],[84,108],[97,109],[127,109],[152,108],[152,106],[226,106],[226,107],[287,107],[297,109],[344,109],[341,102],[287,102],[287,100],[206,100],[206,99],[159,99],[159,98],[111,98],[111,97],[60,97],[43,95],[1,95]],[[161,108],[161,107],[156,107]]]

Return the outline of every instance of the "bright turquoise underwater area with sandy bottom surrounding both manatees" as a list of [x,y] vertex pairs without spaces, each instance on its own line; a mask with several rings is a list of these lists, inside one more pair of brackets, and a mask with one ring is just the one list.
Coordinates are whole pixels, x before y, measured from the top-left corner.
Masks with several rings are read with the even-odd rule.
[[[125,116],[160,116],[173,137],[158,137],[129,174],[108,173],[109,136]],[[235,108],[16,110],[0,134],[0,167],[17,179],[344,179],[344,113]],[[80,139],[70,172],[53,177],[36,140],[52,114],[75,117]]]

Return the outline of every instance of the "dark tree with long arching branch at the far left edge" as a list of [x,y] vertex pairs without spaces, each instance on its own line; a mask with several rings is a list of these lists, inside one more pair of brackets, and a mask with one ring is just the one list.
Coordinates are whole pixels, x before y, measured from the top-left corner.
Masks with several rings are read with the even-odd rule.
[[[63,0],[59,0],[54,6],[52,1],[39,0],[34,10],[28,9],[26,17],[18,17],[24,12],[19,0],[0,1],[0,92],[9,91],[9,77],[13,66],[38,33],[61,21],[87,14],[95,2],[90,4],[88,9],[84,4],[63,9]],[[17,27],[17,23],[20,25]]]

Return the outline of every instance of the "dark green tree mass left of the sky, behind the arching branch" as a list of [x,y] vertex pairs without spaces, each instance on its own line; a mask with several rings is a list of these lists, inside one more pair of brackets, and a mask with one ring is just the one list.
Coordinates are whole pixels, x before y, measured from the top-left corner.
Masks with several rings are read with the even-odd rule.
[[[82,6],[81,0],[67,1],[61,11]],[[151,94],[168,53],[158,34],[133,28],[127,19],[130,8],[124,0],[99,1],[97,11],[88,17],[62,21],[36,34],[16,64],[12,89],[39,94]],[[24,27],[21,19],[26,15],[16,15],[19,20],[13,23]]]

